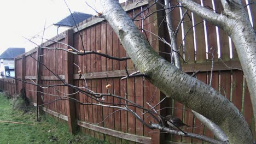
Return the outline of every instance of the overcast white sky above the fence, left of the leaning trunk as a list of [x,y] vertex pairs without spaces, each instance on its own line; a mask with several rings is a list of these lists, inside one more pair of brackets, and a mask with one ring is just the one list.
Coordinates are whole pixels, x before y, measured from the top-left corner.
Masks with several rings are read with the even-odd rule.
[[[66,0],[71,11],[95,14],[84,0]],[[90,5],[100,10],[99,0],[86,0]],[[124,2],[121,0],[120,2]],[[0,4],[0,54],[8,47],[25,47],[26,51],[35,47],[22,38],[32,38],[46,27],[56,23],[70,13],[63,0],[8,0]],[[51,35],[53,30],[46,30],[45,35]],[[56,33],[56,29],[54,29]],[[47,38],[47,37],[46,37]]]

